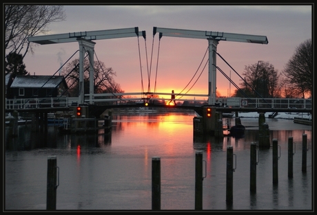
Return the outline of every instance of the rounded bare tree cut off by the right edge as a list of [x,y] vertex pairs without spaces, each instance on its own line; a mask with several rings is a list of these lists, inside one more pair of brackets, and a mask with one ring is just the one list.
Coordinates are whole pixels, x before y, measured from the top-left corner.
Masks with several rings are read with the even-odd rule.
[[307,39],[296,47],[295,53],[289,59],[283,74],[287,86],[292,88],[292,94],[305,98],[305,93],[313,91],[313,48],[311,39]]

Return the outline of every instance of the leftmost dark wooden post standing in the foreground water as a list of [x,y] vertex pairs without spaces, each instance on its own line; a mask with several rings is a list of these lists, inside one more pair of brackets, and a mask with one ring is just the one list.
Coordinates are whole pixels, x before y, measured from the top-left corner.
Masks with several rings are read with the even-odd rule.
[[48,182],[46,190],[46,210],[56,210],[57,199],[57,157],[48,157]]

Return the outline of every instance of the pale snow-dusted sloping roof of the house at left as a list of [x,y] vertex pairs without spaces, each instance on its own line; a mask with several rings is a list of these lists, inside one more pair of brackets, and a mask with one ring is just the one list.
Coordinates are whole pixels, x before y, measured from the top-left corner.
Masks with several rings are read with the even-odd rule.
[[17,76],[14,78],[11,88],[54,88],[63,81],[63,78],[64,76]]

